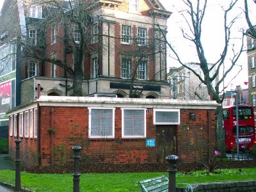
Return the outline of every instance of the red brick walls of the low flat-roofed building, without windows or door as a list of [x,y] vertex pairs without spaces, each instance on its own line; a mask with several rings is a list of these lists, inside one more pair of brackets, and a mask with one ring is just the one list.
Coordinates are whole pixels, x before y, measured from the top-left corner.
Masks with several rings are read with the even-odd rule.
[[[40,107],[40,157],[42,166],[65,163],[72,159],[72,146],[83,147],[81,160],[93,163],[156,163],[156,147],[146,147],[145,138],[122,138],[122,111],[115,109],[115,138],[88,138],[88,108]],[[196,120],[189,119],[196,113]],[[147,109],[147,138],[156,139],[153,109]],[[208,126],[209,125],[209,126]],[[210,127],[210,129],[208,129]],[[53,145],[51,145],[52,128]],[[40,138],[40,139],[39,139]],[[182,162],[205,161],[214,156],[215,121],[214,110],[180,109],[180,125],[177,125],[177,156]],[[15,158],[15,138],[10,137],[10,156]],[[53,146],[53,148],[52,148]],[[20,154],[22,164],[36,163],[37,140],[22,138]]]

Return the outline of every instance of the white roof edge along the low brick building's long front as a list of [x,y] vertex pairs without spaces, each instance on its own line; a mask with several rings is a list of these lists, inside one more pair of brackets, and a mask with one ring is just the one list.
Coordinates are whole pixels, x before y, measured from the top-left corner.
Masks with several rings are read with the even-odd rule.
[[136,106],[145,108],[211,108],[220,106],[214,100],[134,99],[115,97],[45,96],[36,100],[40,106]]

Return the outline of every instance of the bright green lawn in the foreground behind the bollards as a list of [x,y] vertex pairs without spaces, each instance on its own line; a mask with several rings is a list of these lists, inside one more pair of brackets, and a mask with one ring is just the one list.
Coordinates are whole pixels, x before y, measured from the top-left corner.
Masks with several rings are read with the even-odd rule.
[[[187,182],[189,184],[203,182],[224,182],[234,180],[251,180],[256,178],[256,168],[218,170],[219,174],[205,174],[205,172],[194,172],[191,175],[177,173],[177,183]],[[156,173],[84,173],[80,177],[80,191],[140,191],[136,185],[138,180],[149,179],[159,175],[167,175],[166,172]],[[21,185],[33,191],[72,191],[72,174],[35,174],[21,173]],[[0,180],[15,184],[15,172],[0,170]]]

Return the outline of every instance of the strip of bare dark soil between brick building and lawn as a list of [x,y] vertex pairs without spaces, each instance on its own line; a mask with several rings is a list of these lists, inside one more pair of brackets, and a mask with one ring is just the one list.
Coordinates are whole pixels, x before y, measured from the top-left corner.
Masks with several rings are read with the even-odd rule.
[[[218,168],[255,168],[256,161],[223,161],[217,163]],[[191,172],[194,170],[204,170],[202,163],[178,163],[180,172]],[[127,172],[166,172],[168,164],[80,164],[81,173],[127,173]],[[74,164],[66,166],[34,166],[22,168],[22,171],[31,173],[73,173]]]

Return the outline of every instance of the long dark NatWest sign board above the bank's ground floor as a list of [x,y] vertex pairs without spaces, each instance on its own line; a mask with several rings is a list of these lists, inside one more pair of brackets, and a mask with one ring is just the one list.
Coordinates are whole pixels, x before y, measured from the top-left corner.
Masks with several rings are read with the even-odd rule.
[[151,92],[161,92],[161,86],[150,84],[131,84],[131,83],[116,83],[110,82],[110,88],[129,90],[132,86],[133,90],[144,90]]

